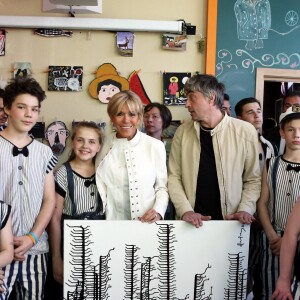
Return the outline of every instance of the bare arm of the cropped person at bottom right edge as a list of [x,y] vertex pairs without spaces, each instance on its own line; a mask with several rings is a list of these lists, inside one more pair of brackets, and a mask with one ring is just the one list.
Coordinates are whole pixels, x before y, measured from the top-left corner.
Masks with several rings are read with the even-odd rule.
[[280,249],[280,275],[272,299],[293,300],[300,298],[299,260],[296,261],[298,264],[294,266],[296,272],[294,272],[293,286],[291,289],[291,275],[293,274],[294,257],[296,254],[297,242],[300,237],[299,216],[300,198],[298,198],[298,201],[289,216],[284,236],[282,238]]

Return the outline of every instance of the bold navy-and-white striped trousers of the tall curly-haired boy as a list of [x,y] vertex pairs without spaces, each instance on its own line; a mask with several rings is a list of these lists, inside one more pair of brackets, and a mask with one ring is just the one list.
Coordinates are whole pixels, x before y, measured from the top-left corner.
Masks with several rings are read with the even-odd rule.
[[48,253],[27,255],[24,261],[13,261],[4,270],[6,291],[0,300],[7,300],[14,285],[18,300],[42,300],[47,276]]

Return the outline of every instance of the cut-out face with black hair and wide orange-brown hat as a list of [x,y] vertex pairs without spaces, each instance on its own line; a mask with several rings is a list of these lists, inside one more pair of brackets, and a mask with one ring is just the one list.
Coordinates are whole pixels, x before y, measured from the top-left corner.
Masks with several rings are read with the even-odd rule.
[[98,68],[96,79],[89,85],[90,95],[105,104],[114,94],[125,90],[129,90],[128,80],[120,76],[116,67],[110,63],[102,64]]

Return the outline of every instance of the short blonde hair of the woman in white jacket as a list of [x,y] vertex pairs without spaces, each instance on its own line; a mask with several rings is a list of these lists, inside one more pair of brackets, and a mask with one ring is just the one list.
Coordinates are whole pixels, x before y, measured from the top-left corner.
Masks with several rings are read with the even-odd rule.
[[112,96],[107,105],[107,113],[112,119],[117,115],[122,107],[127,104],[131,113],[136,113],[140,120],[143,119],[144,106],[140,97],[132,91],[122,91]]

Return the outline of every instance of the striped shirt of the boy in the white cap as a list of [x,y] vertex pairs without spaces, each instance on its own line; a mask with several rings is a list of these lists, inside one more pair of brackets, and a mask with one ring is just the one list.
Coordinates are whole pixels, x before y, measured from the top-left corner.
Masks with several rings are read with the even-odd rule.
[[[268,185],[270,189],[269,216],[273,221],[274,193],[272,184],[272,170],[275,158],[270,159],[268,168]],[[284,231],[288,216],[300,196],[300,172],[294,170],[287,171],[287,166],[299,167],[300,164],[286,161],[280,158],[276,174],[276,201],[275,201],[275,229]]]

